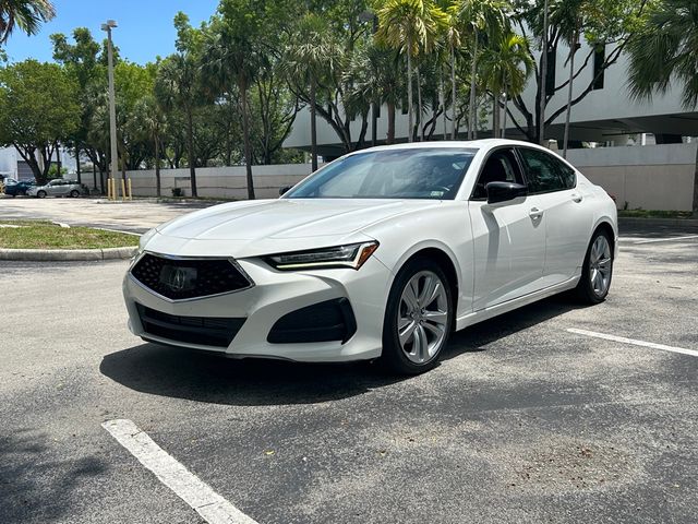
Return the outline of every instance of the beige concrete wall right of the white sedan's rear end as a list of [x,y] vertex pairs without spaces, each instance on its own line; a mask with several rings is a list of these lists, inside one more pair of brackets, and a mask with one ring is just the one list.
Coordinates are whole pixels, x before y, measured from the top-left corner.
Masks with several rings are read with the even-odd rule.
[[690,211],[698,144],[570,150],[567,159],[618,209]]

